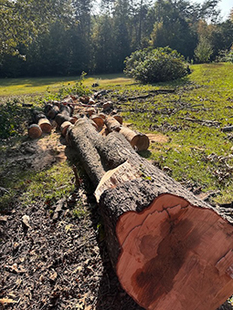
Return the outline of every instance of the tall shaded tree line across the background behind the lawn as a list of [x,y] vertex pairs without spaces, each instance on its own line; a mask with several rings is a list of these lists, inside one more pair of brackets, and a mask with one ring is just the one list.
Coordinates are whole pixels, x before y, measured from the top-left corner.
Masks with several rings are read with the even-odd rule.
[[0,77],[122,72],[125,57],[146,47],[213,61],[233,43],[233,14],[222,21],[218,2],[1,0]]

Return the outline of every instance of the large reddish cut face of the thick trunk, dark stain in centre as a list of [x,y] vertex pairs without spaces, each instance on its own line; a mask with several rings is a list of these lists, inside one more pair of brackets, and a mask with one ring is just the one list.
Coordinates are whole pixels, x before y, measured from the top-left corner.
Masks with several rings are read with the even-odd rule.
[[233,292],[232,235],[216,212],[160,195],[119,219],[122,287],[145,309],[215,310]]

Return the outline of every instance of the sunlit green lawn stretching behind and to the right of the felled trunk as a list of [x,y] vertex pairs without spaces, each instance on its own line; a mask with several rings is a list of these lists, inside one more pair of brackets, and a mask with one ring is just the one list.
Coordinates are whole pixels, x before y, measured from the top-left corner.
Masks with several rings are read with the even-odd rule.
[[[110,96],[115,106],[122,109],[124,121],[132,123],[134,129],[166,138],[152,142],[150,149],[143,152],[144,157],[165,167],[171,177],[190,189],[215,192],[213,202],[231,203],[233,132],[221,129],[233,125],[233,64],[195,65],[191,69],[187,78],[155,85],[142,85],[122,74],[86,77],[84,84],[90,87],[98,82],[97,89],[111,89]],[[48,88],[50,92],[58,91],[62,85],[75,84],[77,79],[2,79],[0,96],[37,95]],[[159,88],[173,88],[175,93],[153,93]],[[127,100],[150,93],[154,95]],[[3,113],[5,110],[0,114]],[[14,113],[16,117],[19,114],[13,105],[12,118]],[[0,145],[0,150],[3,148],[6,146]],[[4,184],[0,182],[0,186]]]

